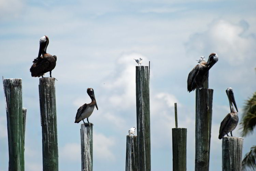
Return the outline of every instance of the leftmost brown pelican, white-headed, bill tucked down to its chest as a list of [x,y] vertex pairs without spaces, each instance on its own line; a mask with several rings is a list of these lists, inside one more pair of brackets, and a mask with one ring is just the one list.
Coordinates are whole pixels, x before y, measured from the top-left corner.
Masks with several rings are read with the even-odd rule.
[[49,44],[49,38],[46,35],[40,38],[39,43],[38,57],[33,60],[33,65],[30,68],[31,76],[42,76],[43,78],[44,73],[50,72],[50,77],[52,77],[52,70],[55,68],[57,57],[46,53]]

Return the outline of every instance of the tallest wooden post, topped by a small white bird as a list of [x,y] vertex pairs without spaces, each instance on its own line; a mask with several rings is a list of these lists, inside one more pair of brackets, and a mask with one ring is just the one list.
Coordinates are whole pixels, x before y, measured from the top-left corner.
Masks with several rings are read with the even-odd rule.
[[151,170],[149,79],[148,66],[136,66],[136,109],[139,171]]

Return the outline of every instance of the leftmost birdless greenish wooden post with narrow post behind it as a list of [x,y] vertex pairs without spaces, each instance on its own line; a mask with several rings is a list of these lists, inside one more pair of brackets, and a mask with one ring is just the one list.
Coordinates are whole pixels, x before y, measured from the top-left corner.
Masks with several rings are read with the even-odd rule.
[[25,118],[22,111],[22,79],[3,79],[6,104],[9,171],[24,171]]

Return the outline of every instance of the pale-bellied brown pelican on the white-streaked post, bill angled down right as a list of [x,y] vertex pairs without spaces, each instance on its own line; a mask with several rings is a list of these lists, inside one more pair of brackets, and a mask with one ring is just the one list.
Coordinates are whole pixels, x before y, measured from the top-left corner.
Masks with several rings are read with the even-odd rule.
[[[79,123],[82,120],[84,122],[85,118],[87,118],[87,122],[89,123],[88,118],[93,113],[94,106],[96,106],[96,108],[98,110],[98,106],[97,106],[96,99],[94,96],[94,90],[92,88],[88,88],[87,94],[91,98],[91,103],[84,104],[77,110],[76,116],[75,116],[75,123]],[[84,122],[84,124],[85,124],[85,122]]]

